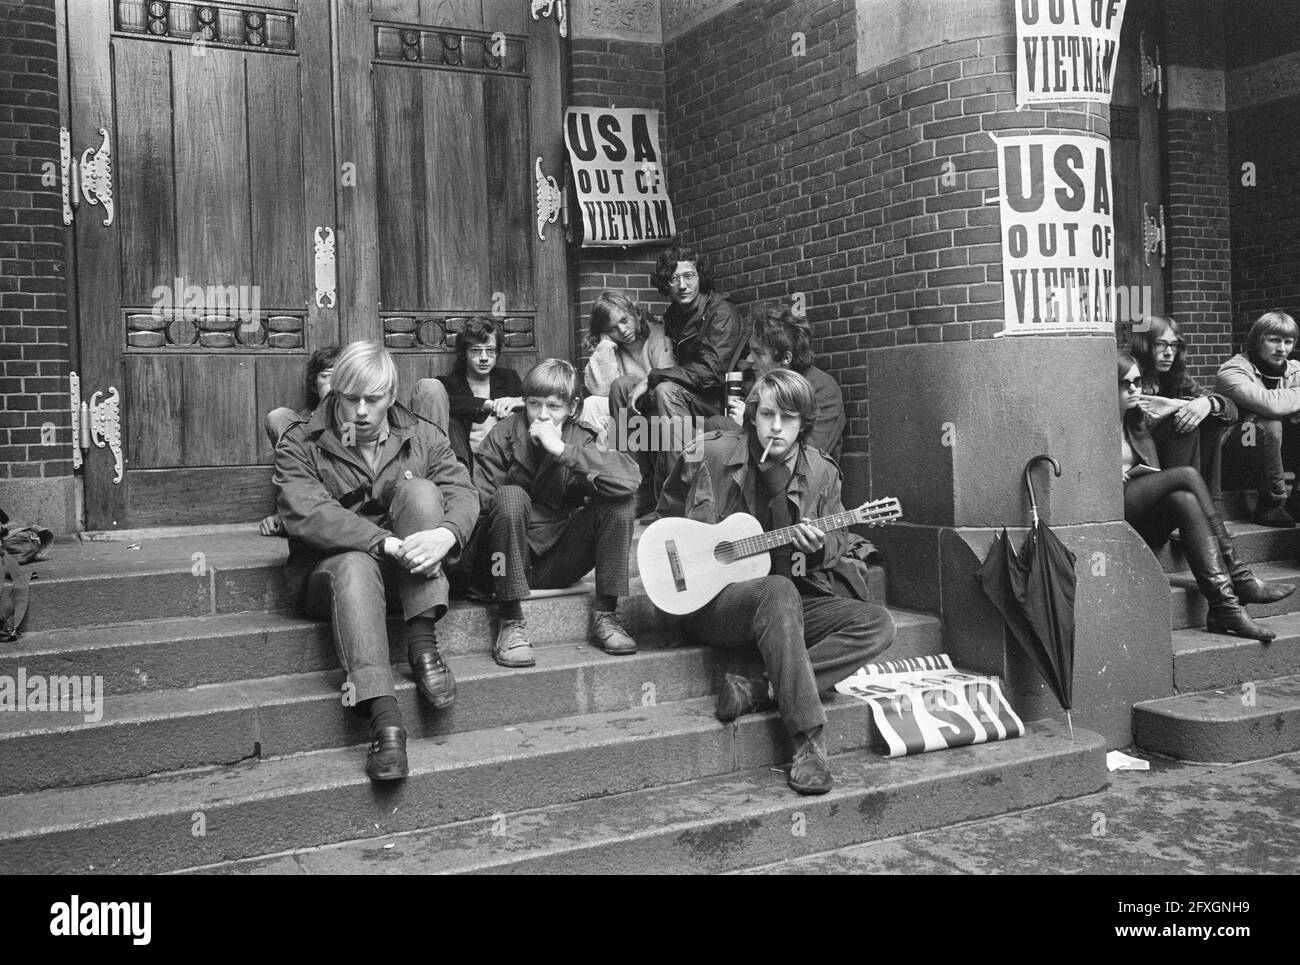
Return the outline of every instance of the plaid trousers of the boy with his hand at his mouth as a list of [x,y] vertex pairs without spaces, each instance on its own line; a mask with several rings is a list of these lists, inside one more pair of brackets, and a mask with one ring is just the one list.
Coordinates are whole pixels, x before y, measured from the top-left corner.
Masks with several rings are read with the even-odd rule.
[[497,600],[526,600],[530,588],[568,587],[594,566],[597,593],[628,596],[628,554],[636,525],[630,496],[593,497],[545,553],[533,553],[528,545],[532,512],[532,497],[521,486],[502,486],[493,494],[480,524],[476,583],[490,581]]

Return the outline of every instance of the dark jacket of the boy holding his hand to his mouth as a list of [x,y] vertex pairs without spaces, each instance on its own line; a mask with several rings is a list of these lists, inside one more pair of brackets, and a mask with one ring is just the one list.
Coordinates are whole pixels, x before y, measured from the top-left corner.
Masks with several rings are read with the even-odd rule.
[[533,553],[554,546],[569,518],[593,496],[636,496],[641,485],[636,459],[597,445],[595,432],[576,419],[564,423],[560,436],[564,451],[551,455],[529,438],[528,411],[520,410],[497,423],[474,453],[474,485],[484,510],[502,486],[521,486],[532,497],[528,546]]

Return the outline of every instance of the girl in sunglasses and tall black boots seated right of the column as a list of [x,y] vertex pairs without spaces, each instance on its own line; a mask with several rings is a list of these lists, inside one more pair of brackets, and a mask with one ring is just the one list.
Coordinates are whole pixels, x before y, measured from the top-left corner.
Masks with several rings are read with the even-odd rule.
[[1294,593],[1295,587],[1290,583],[1264,583],[1240,561],[1205,480],[1196,469],[1187,466],[1161,469],[1156,443],[1147,429],[1147,415],[1139,402],[1143,394],[1141,371],[1123,351],[1117,368],[1124,519],[1152,549],[1158,549],[1178,529],[1196,585],[1209,603],[1205,629],[1264,642],[1273,640],[1277,635],[1252,620],[1242,605],[1275,602]]

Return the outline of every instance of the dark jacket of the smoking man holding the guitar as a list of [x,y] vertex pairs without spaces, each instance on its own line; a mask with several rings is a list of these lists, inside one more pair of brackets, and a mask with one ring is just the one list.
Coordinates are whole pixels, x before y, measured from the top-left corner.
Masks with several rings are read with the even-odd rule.
[[[840,502],[840,467],[816,449],[801,446],[786,490],[790,518],[820,519],[844,512]],[[749,464],[748,432],[706,432],[686,446],[659,496],[660,516],[685,516],[718,523],[733,512],[757,511],[754,472]],[[807,561],[807,572],[796,580],[801,592],[867,598],[866,558],[870,542],[848,529],[826,535],[820,558]]]

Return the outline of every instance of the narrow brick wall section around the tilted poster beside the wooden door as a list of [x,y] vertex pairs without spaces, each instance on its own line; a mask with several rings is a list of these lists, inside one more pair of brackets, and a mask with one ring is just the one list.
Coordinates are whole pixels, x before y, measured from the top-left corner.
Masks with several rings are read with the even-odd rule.
[[[663,47],[624,40],[573,39],[571,44],[573,107],[634,107],[663,111]],[[659,144],[668,150],[668,118],[659,118]],[[673,199],[677,186],[670,179]],[[581,225],[577,211],[571,221]],[[679,215],[680,218],[680,215]],[[577,229],[575,229],[577,230]],[[604,289],[627,293],[662,315],[667,299],[650,285],[658,247],[581,248],[577,252],[577,317],[573,345],[588,355],[592,303]]]

